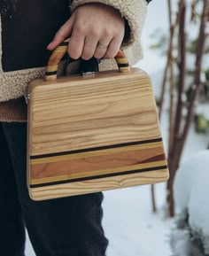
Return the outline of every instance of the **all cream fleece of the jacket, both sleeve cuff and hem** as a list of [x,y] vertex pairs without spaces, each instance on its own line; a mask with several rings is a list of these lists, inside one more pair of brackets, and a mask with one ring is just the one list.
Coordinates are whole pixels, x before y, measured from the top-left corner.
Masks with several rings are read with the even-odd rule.
[[[134,65],[140,58],[142,58],[140,35],[147,12],[147,2],[145,0],[74,0],[71,5],[72,12],[74,12],[74,10],[81,4],[87,3],[111,5],[120,11],[122,17],[128,20],[130,38],[123,48],[129,64],[131,66]],[[2,59],[1,27],[0,19],[0,58]],[[100,70],[113,69],[115,67],[114,59],[103,60],[100,64]],[[28,82],[35,78],[43,77],[44,69],[45,67],[39,67],[20,71],[4,72],[2,68],[2,61],[0,61],[0,102],[5,102],[25,95],[27,92]],[[4,113],[0,113],[0,120],[4,120]]]

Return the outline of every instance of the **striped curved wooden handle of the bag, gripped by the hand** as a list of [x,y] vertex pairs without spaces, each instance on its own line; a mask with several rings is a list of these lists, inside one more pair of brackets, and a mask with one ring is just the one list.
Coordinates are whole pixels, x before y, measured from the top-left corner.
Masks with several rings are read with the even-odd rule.
[[[58,47],[51,53],[45,72],[46,81],[57,80],[58,64],[67,52],[68,42],[69,39],[66,39],[63,43],[60,43]],[[120,72],[125,73],[130,71],[128,59],[122,50],[119,50],[118,54],[115,56],[115,60],[118,64]]]

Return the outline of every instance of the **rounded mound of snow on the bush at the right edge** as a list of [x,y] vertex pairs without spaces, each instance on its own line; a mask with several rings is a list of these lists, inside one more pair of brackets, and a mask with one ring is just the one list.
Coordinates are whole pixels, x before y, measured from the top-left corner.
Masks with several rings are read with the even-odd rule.
[[174,200],[179,213],[188,212],[190,229],[203,237],[209,252],[209,151],[201,151],[187,159],[174,180]]

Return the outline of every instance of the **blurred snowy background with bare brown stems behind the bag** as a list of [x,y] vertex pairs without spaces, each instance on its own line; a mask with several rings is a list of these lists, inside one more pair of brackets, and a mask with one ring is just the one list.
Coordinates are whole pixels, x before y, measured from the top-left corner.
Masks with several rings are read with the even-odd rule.
[[151,76],[170,180],[104,192],[107,256],[209,255],[208,2],[148,5],[136,66]]

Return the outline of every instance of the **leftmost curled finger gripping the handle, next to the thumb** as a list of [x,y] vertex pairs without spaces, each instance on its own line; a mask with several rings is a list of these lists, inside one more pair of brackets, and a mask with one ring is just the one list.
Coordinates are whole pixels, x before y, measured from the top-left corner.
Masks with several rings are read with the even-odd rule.
[[73,31],[68,44],[68,54],[71,58],[81,58],[83,46],[85,43],[85,35]]

